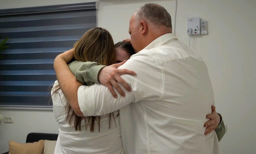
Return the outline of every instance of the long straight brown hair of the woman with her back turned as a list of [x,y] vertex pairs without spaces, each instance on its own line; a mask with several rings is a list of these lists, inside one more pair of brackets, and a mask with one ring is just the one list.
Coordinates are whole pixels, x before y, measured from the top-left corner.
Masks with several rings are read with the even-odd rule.
[[[83,62],[97,62],[99,65],[112,65],[116,63],[115,46],[111,34],[102,28],[93,28],[88,30],[74,45],[74,58]],[[54,93],[60,89],[59,85],[55,88]],[[109,128],[111,115],[114,117],[114,113],[109,114]],[[114,117],[115,118],[115,117]],[[75,111],[71,108],[69,103],[66,105],[66,121],[69,125],[74,122],[75,130],[81,131],[81,122],[85,121],[85,128],[90,124],[90,131],[94,132],[95,121],[99,123],[100,116],[88,116],[79,117],[75,114]]]

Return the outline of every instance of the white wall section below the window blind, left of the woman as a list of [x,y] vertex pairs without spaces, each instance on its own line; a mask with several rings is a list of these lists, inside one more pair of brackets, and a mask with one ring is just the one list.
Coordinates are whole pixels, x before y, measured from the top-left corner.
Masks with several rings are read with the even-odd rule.
[[26,143],[29,133],[58,134],[58,123],[53,111],[37,110],[0,110],[3,116],[14,116],[14,123],[0,123],[0,153],[9,151],[9,141]]

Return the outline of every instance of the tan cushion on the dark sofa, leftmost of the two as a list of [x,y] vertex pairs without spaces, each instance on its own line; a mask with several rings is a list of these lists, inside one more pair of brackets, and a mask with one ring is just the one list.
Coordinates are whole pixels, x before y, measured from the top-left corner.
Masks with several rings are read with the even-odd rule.
[[34,143],[9,142],[9,154],[43,154],[44,140]]

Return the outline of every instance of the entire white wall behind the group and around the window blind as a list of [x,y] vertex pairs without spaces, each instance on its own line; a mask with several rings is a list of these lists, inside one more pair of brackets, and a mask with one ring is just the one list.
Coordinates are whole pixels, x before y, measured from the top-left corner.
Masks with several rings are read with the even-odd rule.
[[[0,0],[0,9],[75,2],[84,1]],[[149,2],[164,6],[174,25],[175,0],[117,0],[100,2],[98,26],[108,29],[115,42],[129,38],[132,13]],[[208,67],[217,111],[228,125],[228,132],[220,142],[224,154],[256,151],[255,8],[254,0],[178,0],[176,35],[180,41],[186,44],[189,41],[187,17],[207,20],[208,34],[192,36],[191,47]],[[9,140],[25,142],[29,132],[57,133],[50,111],[0,110],[0,114],[13,115],[15,120],[14,124],[0,124],[0,153],[8,150]]]

